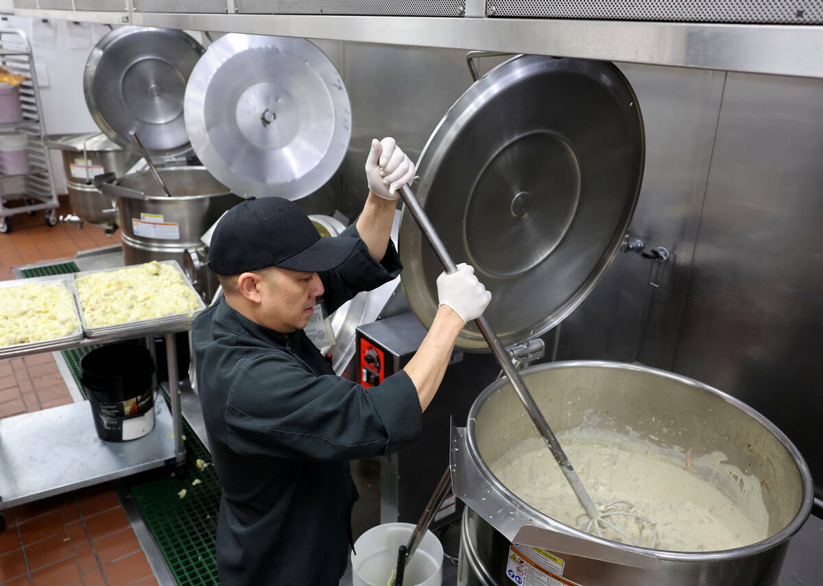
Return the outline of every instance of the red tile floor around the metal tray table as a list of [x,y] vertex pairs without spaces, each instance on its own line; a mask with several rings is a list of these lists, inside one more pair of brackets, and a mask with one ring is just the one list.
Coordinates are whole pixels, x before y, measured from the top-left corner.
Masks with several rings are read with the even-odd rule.
[[[71,212],[61,198],[59,214]],[[49,227],[44,212],[11,216],[0,234],[0,280],[12,267],[119,244],[86,225]],[[0,360],[0,418],[71,402],[51,354]],[[0,470],[2,473],[2,470]],[[146,556],[109,484],[58,495],[4,511],[0,533],[0,586],[156,586]]]

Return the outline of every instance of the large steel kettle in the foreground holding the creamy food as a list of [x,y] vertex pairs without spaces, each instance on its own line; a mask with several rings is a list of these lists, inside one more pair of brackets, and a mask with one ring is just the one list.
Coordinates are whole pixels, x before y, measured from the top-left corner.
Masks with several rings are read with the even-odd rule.
[[452,430],[454,492],[468,505],[458,584],[513,584],[506,576],[509,545],[524,525],[605,545],[616,555],[659,560],[659,568],[650,570],[553,552],[565,560],[563,579],[584,586],[775,584],[788,540],[806,521],[813,494],[802,456],[770,421],[716,388],[639,365],[557,362],[524,370],[523,379],[558,432],[583,425],[625,433],[630,426],[644,440],[681,446],[692,455],[725,453],[728,463],[760,479],[770,537],[727,551],[658,551],[592,537],[547,517],[509,491],[489,468],[514,444],[537,437],[501,379],[477,397],[467,426]]

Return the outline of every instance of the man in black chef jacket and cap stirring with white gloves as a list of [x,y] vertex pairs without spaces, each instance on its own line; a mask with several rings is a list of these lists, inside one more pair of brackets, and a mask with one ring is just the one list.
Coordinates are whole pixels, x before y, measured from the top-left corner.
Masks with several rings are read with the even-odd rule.
[[[223,298],[194,321],[198,390],[223,493],[217,569],[223,586],[337,584],[357,489],[349,461],[421,435],[458,332],[491,294],[472,267],[438,277],[439,309],[407,366],[374,388],[334,374],[306,337],[322,295],[331,313],[397,277],[389,241],[396,188],[414,166],[392,138],[373,141],[370,193],[356,223],[320,238],[281,198],[247,200],[217,224],[210,265]],[[444,447],[445,449],[445,447]]]

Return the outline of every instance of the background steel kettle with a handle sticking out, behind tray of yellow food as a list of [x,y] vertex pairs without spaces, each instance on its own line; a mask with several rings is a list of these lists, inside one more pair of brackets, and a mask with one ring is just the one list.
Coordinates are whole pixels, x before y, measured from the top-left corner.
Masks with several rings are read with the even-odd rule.
[[159,169],[171,198],[149,171],[103,184],[103,193],[117,199],[120,238],[126,264],[173,259],[195,249],[200,236],[223,212],[242,201],[204,167]]

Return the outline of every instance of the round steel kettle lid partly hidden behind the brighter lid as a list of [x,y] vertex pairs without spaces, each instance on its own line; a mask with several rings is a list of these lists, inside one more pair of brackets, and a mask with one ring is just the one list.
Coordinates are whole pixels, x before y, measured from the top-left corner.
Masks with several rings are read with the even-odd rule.
[[191,151],[183,115],[186,81],[203,52],[181,30],[120,26],[91,49],[83,92],[91,117],[129,151],[137,137],[159,156]]

